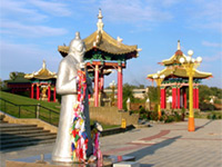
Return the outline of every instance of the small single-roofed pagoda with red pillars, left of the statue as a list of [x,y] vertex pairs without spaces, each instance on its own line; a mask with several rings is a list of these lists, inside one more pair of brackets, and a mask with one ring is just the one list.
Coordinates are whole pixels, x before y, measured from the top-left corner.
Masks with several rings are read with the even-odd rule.
[[[37,72],[27,73],[26,79],[31,81],[31,98],[36,97],[37,100],[51,101],[51,88],[53,89],[53,101],[56,102],[56,80],[57,73],[47,69],[46,61],[43,60],[42,68]],[[36,95],[34,95],[36,87]],[[41,92],[41,94],[40,94]]]

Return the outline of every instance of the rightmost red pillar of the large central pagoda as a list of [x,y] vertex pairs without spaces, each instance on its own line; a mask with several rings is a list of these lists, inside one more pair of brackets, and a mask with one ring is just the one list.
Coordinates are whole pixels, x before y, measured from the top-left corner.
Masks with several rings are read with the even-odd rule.
[[118,67],[118,109],[122,109],[122,67]]

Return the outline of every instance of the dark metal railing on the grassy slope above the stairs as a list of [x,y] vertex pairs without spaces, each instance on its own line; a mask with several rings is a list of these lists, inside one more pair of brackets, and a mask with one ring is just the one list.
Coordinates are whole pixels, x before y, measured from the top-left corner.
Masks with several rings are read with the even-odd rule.
[[0,110],[17,118],[39,118],[51,125],[58,126],[59,112],[44,106],[38,105],[18,105],[0,98]]

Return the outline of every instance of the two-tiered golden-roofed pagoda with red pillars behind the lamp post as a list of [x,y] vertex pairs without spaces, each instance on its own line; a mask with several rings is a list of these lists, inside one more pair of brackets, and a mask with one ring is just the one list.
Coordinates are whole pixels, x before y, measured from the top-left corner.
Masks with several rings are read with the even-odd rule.
[[[157,73],[148,75],[148,79],[154,80],[157,76],[163,76],[163,80],[160,85],[161,97],[160,104],[161,109],[167,108],[167,94],[165,90],[170,88],[172,90],[172,109],[186,108],[188,106],[188,96],[186,89],[189,88],[189,76],[186,70],[182,67],[180,59],[186,58],[186,56],[181,51],[180,40],[178,41],[178,50],[170,58],[159,62],[165,68]],[[193,76],[193,108],[199,109],[199,85],[202,79],[212,77],[210,72],[202,72],[194,69]]]

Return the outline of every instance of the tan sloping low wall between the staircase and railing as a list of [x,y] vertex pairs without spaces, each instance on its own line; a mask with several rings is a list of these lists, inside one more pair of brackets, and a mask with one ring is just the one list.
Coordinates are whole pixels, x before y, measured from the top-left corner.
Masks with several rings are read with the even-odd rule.
[[44,130],[50,130],[51,132],[57,132],[58,127],[50,125],[43,120],[36,119],[36,118],[16,118],[8,114],[4,114],[0,111],[0,115],[3,115],[4,121],[8,121],[9,124],[23,124],[23,125],[37,125],[38,127],[42,127]]

